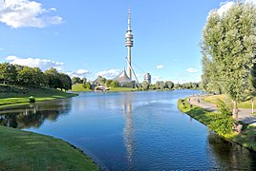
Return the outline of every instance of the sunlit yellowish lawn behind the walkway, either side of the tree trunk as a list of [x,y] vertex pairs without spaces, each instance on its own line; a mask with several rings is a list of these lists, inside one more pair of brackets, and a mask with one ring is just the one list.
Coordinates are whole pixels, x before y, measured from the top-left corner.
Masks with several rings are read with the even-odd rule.
[[[219,100],[224,101],[225,95],[212,95],[203,97],[203,101],[210,104],[219,104]],[[239,108],[251,108],[251,100],[247,100],[243,103],[238,104]],[[256,108],[256,100],[254,103],[254,108]]]

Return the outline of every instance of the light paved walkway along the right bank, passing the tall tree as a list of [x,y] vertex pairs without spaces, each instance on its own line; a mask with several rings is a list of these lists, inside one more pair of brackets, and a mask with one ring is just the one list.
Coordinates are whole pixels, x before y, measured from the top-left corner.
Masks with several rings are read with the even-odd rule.
[[[190,97],[188,101],[190,104],[197,105],[208,111],[217,112],[219,110],[216,105],[203,102],[200,96]],[[256,115],[251,114],[250,108],[239,108],[238,121],[256,125]]]

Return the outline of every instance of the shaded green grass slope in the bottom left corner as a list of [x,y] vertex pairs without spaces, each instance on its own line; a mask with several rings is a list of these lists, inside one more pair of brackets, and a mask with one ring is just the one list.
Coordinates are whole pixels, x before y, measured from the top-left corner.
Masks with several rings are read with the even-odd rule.
[[98,170],[71,144],[50,136],[0,126],[1,170]]

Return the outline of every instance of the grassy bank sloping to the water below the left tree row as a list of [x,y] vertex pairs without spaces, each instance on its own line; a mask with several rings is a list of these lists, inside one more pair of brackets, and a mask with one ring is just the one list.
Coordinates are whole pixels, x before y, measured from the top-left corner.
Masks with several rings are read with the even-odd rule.
[[66,93],[58,89],[38,86],[0,85],[0,107],[29,103],[33,96],[36,102],[74,97],[74,93]]

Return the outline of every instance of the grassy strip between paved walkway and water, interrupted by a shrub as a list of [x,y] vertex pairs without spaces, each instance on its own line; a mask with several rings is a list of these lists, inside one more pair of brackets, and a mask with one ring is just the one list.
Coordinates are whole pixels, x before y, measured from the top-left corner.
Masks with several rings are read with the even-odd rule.
[[[204,110],[195,105],[190,105],[185,99],[178,101],[180,110],[199,122],[209,127],[211,121],[214,120],[214,113]],[[249,127],[244,124],[242,134],[226,134],[224,138],[237,142],[249,149],[256,151],[256,127]]]

